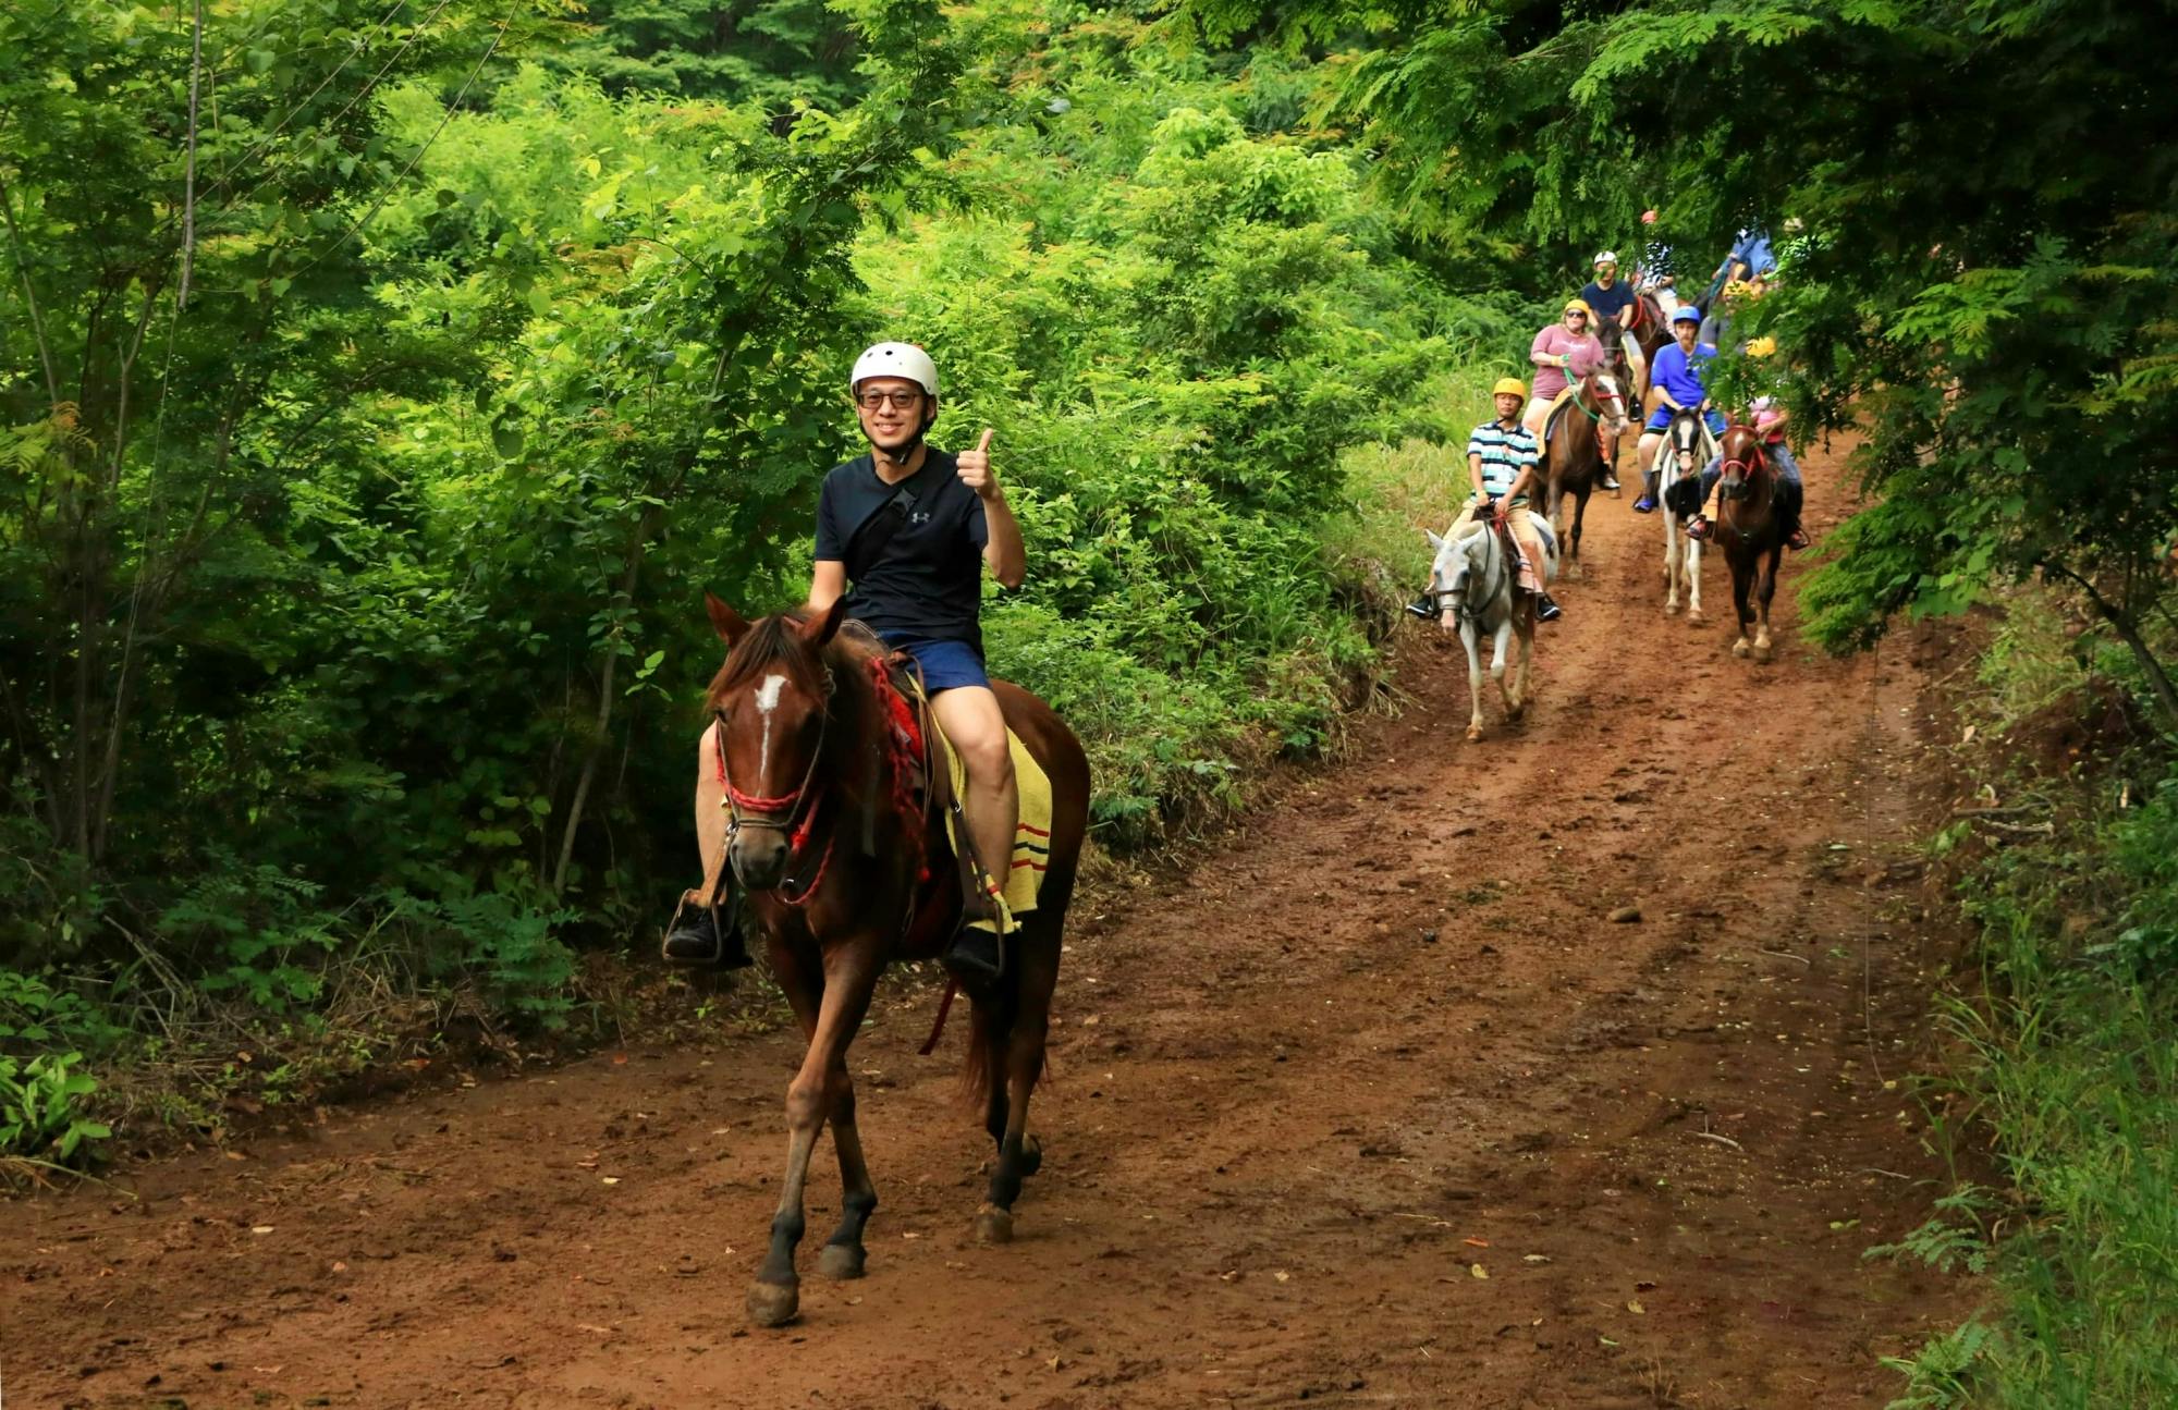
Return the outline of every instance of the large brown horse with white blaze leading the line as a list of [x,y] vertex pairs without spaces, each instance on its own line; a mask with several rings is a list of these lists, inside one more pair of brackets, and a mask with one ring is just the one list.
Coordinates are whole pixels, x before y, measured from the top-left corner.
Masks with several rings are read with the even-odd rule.
[[[708,799],[725,807],[727,862],[808,1038],[802,1071],[786,1088],[786,1179],[771,1251],[749,1286],[749,1319],[778,1327],[802,1301],[802,1190],[828,1121],[843,1197],[817,1271],[834,1279],[862,1275],[862,1227],[878,1190],[854,1123],[847,1044],[862,1027],[880,970],[893,960],[934,957],[952,938],[963,881],[941,825],[945,766],[926,764],[937,733],[919,727],[893,690],[882,648],[839,631],[845,605],[751,624],[714,596],[706,594],[706,603],[727,655],[706,696],[714,720],[703,735],[706,779],[717,759],[717,781],[708,796],[699,790],[697,807]],[[1004,975],[989,992],[969,994],[967,1086],[984,1101],[984,1129],[998,1142],[976,1234],[1006,1242],[1021,1182],[1043,1164],[1043,1147],[1028,1136],[1028,1094],[1043,1073],[1059,936],[1089,829],[1089,759],[1050,705],[1006,681],[993,681],[993,690],[1052,781],[1037,910],[1006,938]],[[923,772],[937,779],[930,796],[917,792]],[[706,862],[714,866],[717,857]],[[1006,864],[991,859],[993,868]]]

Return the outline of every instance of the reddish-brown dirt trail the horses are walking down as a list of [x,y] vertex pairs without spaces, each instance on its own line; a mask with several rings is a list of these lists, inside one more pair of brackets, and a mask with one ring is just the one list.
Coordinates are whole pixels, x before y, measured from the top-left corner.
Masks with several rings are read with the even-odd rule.
[[[1810,457],[1814,527],[1840,498]],[[797,1047],[599,1055],[0,1208],[9,1406],[1880,1406],[1956,1312],[1860,1249],[1941,1175],[1901,648],[1777,664],[1660,616],[1590,505],[1540,703],[1359,727],[1194,875],[1082,914],[1019,1242],[928,997],[854,1053],[869,1277],[745,1332]],[[1433,633],[1429,633],[1433,635]],[[1638,905],[1640,923],[1607,920]],[[268,1229],[266,1229],[268,1227]],[[257,1232],[266,1229],[266,1232]]]

